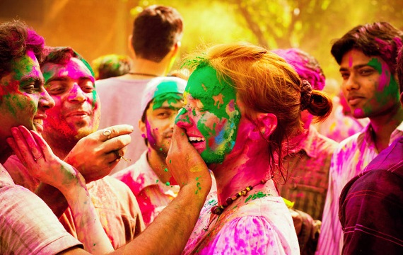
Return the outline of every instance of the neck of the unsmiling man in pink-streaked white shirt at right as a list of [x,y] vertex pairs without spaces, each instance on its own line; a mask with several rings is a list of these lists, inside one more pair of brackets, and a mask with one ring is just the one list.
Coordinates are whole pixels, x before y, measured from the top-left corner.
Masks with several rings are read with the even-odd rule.
[[370,118],[370,126],[373,129],[373,140],[378,152],[382,152],[390,144],[390,135],[403,121],[403,108],[397,108],[390,114]]

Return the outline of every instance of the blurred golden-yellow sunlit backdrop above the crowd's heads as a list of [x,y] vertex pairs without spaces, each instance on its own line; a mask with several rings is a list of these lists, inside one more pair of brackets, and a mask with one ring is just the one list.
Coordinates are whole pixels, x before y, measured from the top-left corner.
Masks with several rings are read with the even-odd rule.
[[[151,4],[173,6],[182,14],[181,58],[200,44],[240,40],[268,49],[300,47],[337,81],[332,40],[374,21],[403,29],[403,0],[0,0],[0,21],[21,19],[47,45],[71,46],[91,62],[100,55],[128,55],[134,17]],[[174,68],[179,66],[180,58]]]

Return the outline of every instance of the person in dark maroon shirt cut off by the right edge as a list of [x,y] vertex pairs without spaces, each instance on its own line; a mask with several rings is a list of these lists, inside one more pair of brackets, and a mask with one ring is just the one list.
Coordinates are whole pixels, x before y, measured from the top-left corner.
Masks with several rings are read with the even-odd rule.
[[[403,106],[403,47],[397,57]],[[382,150],[341,191],[343,254],[403,254],[403,136]]]

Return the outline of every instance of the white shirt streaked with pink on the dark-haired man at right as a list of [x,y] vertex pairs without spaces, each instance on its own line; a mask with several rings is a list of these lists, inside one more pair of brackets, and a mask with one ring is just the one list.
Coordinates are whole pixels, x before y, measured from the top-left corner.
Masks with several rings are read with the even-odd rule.
[[[403,122],[390,135],[389,145],[403,136]],[[322,217],[318,255],[341,254],[343,230],[339,222],[339,196],[346,183],[376,157],[378,150],[372,138],[370,124],[362,131],[342,141],[334,152],[329,171],[325,209]]]

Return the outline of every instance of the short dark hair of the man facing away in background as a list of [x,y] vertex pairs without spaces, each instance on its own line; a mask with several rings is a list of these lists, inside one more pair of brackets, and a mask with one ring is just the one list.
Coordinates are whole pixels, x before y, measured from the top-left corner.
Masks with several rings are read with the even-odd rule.
[[132,46],[136,56],[160,62],[182,37],[182,16],[169,6],[148,6],[134,19]]

